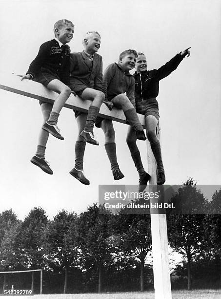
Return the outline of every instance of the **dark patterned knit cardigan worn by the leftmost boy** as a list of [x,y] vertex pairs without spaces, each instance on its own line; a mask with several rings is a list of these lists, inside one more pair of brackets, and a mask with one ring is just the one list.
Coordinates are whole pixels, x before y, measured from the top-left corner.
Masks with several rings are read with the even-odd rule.
[[71,50],[67,44],[60,48],[55,39],[42,43],[38,55],[30,64],[26,74],[31,74],[34,78],[41,71],[49,71],[49,73],[58,75],[65,85],[69,85],[70,53]]

